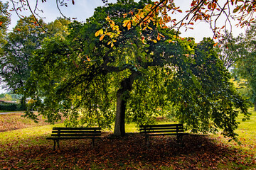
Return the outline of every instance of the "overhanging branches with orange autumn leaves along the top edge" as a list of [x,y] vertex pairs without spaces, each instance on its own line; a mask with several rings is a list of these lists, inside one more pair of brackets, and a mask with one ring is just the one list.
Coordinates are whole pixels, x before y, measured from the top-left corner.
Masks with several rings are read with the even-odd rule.
[[[15,1],[11,0],[13,7],[11,11],[15,11],[19,17],[23,17],[23,11],[29,10],[34,18],[43,18],[41,14],[43,10],[39,6],[48,3],[48,1],[36,1],[35,6],[31,6],[28,1]],[[213,30],[214,38],[220,38],[221,30],[223,28],[233,28],[232,21],[235,21],[235,26],[246,27],[250,26],[251,23],[255,23],[255,0],[245,1],[245,0],[226,0],[226,1],[211,1],[211,0],[191,0],[188,4],[191,4],[190,8],[185,8],[185,12],[181,10],[180,6],[176,6],[176,1],[174,0],[161,0],[154,1],[154,5],[150,5],[151,1],[143,0],[149,9],[148,11],[143,11],[146,16],[149,13],[159,13],[161,21],[168,21],[169,28],[180,28],[193,29],[193,25],[198,21],[205,21],[209,24],[210,29]],[[102,0],[104,4],[108,4],[108,1]],[[42,3],[42,4],[40,4]],[[58,0],[55,1],[60,14],[63,17],[60,6],[74,5],[75,0]],[[142,9],[142,8],[141,8]],[[137,8],[131,8],[131,13],[134,13]],[[183,18],[178,19],[174,14],[176,13],[186,13]],[[223,23],[223,18],[225,22]],[[71,19],[71,18],[70,18]],[[75,18],[73,18],[75,19]],[[147,20],[147,18],[145,18]],[[39,19],[37,19],[39,21]],[[40,25],[40,24],[39,24]],[[41,25],[40,25],[41,26]],[[43,28],[43,26],[41,26]],[[43,28],[44,30],[44,28]]]

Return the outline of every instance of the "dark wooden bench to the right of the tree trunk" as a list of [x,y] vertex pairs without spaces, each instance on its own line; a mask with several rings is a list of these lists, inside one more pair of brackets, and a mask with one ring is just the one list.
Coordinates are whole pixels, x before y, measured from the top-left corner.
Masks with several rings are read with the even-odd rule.
[[146,144],[149,142],[149,136],[176,135],[177,141],[182,142],[184,133],[183,124],[166,124],[166,125],[140,125],[139,133],[145,136]]

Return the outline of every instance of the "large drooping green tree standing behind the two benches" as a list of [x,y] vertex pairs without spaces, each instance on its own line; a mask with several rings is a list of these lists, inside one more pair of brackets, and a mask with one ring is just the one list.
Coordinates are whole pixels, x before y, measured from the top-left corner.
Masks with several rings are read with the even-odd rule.
[[70,126],[110,128],[115,121],[114,135],[123,136],[125,121],[151,123],[171,104],[193,132],[221,128],[235,137],[239,111],[234,108],[247,117],[247,102],[229,83],[213,41],[197,45],[193,38],[180,38],[154,22],[158,15],[149,16],[152,22],[132,21],[132,9],[148,7],[142,1],[117,1],[96,8],[86,23],[71,23],[66,38],[46,38],[31,60],[26,84],[32,107],[51,123],[60,113]]

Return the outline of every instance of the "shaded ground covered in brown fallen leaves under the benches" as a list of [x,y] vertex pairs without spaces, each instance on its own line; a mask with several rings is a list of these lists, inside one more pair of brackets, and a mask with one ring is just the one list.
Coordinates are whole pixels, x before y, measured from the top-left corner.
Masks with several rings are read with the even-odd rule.
[[63,140],[53,151],[53,141],[40,145],[0,145],[0,166],[6,169],[254,169],[255,155],[213,142],[208,136],[144,137],[132,133],[122,138],[105,136],[92,148],[90,140]]

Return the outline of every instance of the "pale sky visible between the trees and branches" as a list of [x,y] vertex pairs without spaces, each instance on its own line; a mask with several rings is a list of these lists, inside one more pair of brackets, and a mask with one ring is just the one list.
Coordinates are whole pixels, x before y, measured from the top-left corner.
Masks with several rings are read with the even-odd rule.
[[[9,0],[2,0],[4,3]],[[18,0],[14,0],[18,1]],[[62,0],[60,0],[62,1]],[[95,8],[97,6],[104,6],[105,4],[102,3],[102,0],[75,0],[75,5],[72,4],[72,0],[65,0],[68,4],[68,7],[60,6],[60,11],[63,13],[64,16],[70,18],[77,18],[78,21],[85,21],[86,18],[89,18],[93,15]],[[108,0],[109,3],[114,3],[116,0]],[[135,0],[138,1],[138,0]],[[32,10],[36,6],[36,0],[28,0],[29,4],[31,5]],[[56,1],[53,0],[46,0],[46,2],[42,3],[42,0],[38,0],[38,9],[42,11],[37,11],[38,15],[43,18],[46,23],[54,21],[57,17],[60,17],[60,11],[56,6]],[[183,16],[186,15],[184,11],[189,10],[191,0],[177,0],[176,6],[181,6],[181,10],[183,13],[176,13],[172,15],[172,18],[181,19]],[[12,8],[11,1],[9,1],[9,7]],[[21,11],[21,15],[29,16],[31,13],[29,10]],[[16,22],[18,21],[18,16],[15,12],[11,12],[11,25],[9,26],[9,30],[16,26]],[[222,23],[221,23],[222,22]],[[220,20],[220,25],[222,26],[224,20]],[[181,37],[193,37],[195,38],[196,42],[200,42],[203,40],[204,37],[213,38],[213,32],[210,30],[210,26],[207,23],[199,22],[193,26],[193,30],[188,29],[186,32],[185,30],[181,31]],[[237,36],[240,33],[244,33],[245,29],[242,28],[232,28],[233,35]],[[0,94],[4,93],[5,91],[0,88]]]

